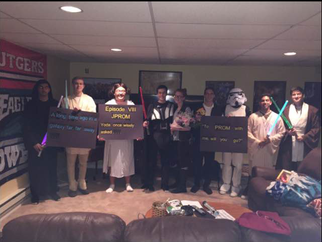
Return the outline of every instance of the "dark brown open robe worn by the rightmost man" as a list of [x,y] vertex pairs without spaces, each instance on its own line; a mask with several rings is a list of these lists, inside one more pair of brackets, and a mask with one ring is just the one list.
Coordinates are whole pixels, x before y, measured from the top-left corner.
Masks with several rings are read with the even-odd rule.
[[[290,121],[289,112],[290,106],[287,106],[284,110],[284,115]],[[286,127],[285,137],[282,140],[280,151],[278,155],[278,161],[276,164],[277,169],[292,169],[292,136],[289,135],[290,130]],[[304,157],[315,147],[317,147],[319,142],[319,132],[320,125],[318,120],[318,109],[308,105],[307,111],[307,123],[305,126],[305,132],[303,136],[303,144],[304,144]],[[303,157],[303,158],[304,158]]]

